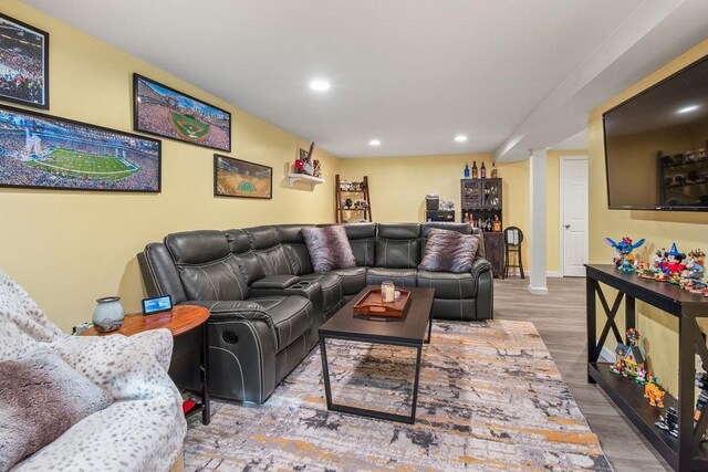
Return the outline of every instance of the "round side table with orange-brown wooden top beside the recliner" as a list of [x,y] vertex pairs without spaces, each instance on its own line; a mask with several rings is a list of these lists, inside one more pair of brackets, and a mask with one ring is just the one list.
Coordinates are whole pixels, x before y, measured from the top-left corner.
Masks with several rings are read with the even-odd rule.
[[[150,329],[169,329],[178,340],[187,340],[187,348],[200,350],[199,371],[201,376],[201,403],[195,405],[187,416],[201,411],[201,422],[209,424],[211,420],[211,408],[209,401],[209,331],[207,326],[209,319],[209,310],[204,306],[178,305],[169,312],[157,313],[155,315],[144,316],[142,313],[133,313],[125,315],[125,321],[121,329],[111,333],[98,333],[95,327],[91,327],[83,332],[82,336],[111,336],[114,334],[123,334],[132,336]],[[201,336],[189,336],[190,332],[201,328]],[[198,346],[196,345],[198,343]],[[175,352],[173,352],[173,358]]]

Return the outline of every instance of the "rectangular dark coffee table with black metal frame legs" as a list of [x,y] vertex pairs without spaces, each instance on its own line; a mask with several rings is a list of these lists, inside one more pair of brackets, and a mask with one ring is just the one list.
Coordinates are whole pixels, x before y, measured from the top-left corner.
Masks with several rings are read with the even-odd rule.
[[[433,327],[433,317],[430,314],[435,289],[406,287],[406,290],[410,291],[412,303],[408,308],[408,314],[403,319],[388,318],[381,321],[381,318],[368,319],[355,317],[353,307],[369,289],[376,287],[369,286],[364,289],[358,295],[352,298],[350,303],[336,312],[334,316],[320,326],[320,354],[322,355],[322,373],[324,375],[324,392],[327,400],[327,409],[332,411],[413,424],[416,421],[416,405],[418,402],[418,379],[420,376],[423,344],[430,342],[430,331]],[[417,350],[416,373],[413,384],[413,405],[410,408],[410,416],[352,407],[348,405],[339,405],[332,401],[332,388],[330,386],[330,369],[327,365],[326,350],[327,338],[415,348]]]

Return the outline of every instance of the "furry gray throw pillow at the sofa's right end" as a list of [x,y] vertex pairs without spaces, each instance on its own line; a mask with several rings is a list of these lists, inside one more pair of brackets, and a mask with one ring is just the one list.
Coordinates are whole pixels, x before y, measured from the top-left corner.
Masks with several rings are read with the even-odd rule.
[[434,228],[428,232],[428,242],[418,269],[458,274],[469,272],[478,247],[479,239],[473,234]]

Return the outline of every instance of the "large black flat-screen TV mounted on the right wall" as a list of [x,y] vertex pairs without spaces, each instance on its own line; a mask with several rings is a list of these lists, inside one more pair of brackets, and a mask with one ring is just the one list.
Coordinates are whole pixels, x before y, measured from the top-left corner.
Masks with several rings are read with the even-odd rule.
[[603,115],[614,210],[708,211],[708,56]]

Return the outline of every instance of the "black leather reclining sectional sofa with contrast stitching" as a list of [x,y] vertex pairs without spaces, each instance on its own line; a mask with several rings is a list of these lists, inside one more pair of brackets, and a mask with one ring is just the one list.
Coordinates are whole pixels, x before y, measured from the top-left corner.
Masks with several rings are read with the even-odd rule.
[[[168,234],[138,254],[148,296],[210,310],[211,395],[262,403],[308,355],[317,328],[366,285],[435,289],[433,316],[492,317],[492,274],[480,241],[469,273],[417,269],[431,228],[465,223],[360,223],[345,230],[356,268],[314,273],[304,224]],[[480,235],[481,240],[481,235]],[[199,389],[198,376],[181,384]]]

